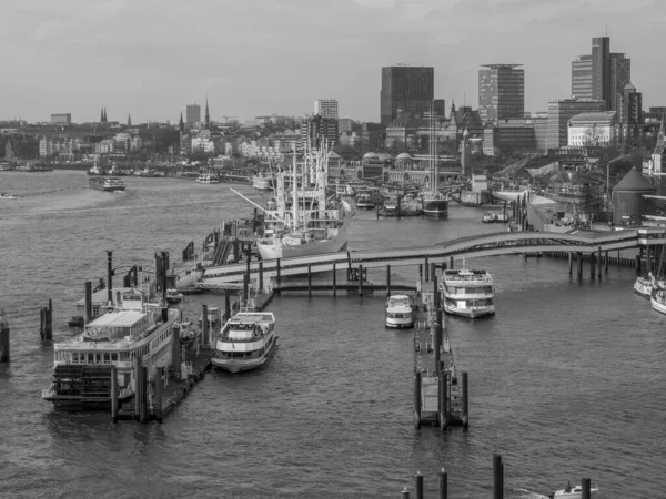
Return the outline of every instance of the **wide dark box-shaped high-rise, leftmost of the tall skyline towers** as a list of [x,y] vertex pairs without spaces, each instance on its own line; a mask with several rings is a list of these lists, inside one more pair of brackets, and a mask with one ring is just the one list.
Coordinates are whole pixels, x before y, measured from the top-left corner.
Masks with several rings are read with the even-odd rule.
[[382,68],[380,114],[383,124],[397,116],[397,110],[417,115],[430,112],[434,99],[433,68],[392,65]]

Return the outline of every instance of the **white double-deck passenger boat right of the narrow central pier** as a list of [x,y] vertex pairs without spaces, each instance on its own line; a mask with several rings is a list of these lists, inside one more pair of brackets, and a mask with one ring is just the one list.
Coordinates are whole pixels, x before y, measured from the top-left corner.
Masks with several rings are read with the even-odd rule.
[[476,318],[495,313],[493,277],[484,268],[444,271],[440,287],[447,314]]

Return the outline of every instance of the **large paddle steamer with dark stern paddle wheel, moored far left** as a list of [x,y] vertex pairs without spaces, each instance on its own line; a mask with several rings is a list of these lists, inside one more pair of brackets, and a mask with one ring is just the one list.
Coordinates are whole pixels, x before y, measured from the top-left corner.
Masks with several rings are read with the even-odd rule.
[[139,289],[113,291],[105,313],[84,326],[83,333],[53,345],[51,386],[42,399],[58,409],[108,409],[111,404],[111,367],[117,368],[119,400],[134,388],[134,359],[143,359],[149,375],[171,365],[173,326],[179,312],[149,302]]

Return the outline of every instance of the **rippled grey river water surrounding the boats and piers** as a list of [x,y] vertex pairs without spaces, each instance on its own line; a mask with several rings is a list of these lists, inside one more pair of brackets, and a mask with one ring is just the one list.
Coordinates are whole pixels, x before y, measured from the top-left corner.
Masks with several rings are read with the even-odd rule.
[[[591,477],[599,498],[664,497],[666,316],[632,291],[632,268],[578,281],[568,263],[477,258],[496,284],[496,315],[448,318],[458,369],[470,376],[468,431],[415,430],[411,334],[383,326],[381,296],[282,296],[276,355],[243,375],[209,373],[163,425],[60,414],[40,399],[52,345],[39,309],[52,298],[54,340],[83,282],[114,266],[178,261],[194,240],[251,210],[231,185],[125,179],[123,193],[88,189],[82,172],[1,172],[0,308],[12,363],[0,365],[0,496],[400,497],[413,475],[448,472],[450,497],[487,498],[502,452],[505,497],[538,498]],[[233,185],[260,201],[245,185]],[[497,231],[483,211],[452,203],[450,218],[357,213],[350,248],[400,248]],[[393,268],[415,281],[417,268]],[[375,276],[383,282],[380,273]],[[118,278],[118,277],[117,277]],[[373,278],[371,278],[373,281]],[[188,297],[201,304],[223,296]]]

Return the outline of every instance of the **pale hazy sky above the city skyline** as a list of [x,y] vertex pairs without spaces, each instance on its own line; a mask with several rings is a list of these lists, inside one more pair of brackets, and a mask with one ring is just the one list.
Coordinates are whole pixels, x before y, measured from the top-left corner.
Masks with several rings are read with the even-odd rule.
[[[571,61],[607,33],[643,104],[666,105],[664,0],[23,0],[0,14],[0,120],[176,122],[312,113],[379,121],[381,68],[435,69],[478,105],[478,67],[521,63],[525,110],[571,96]],[[607,27],[607,28],[606,28]]]

